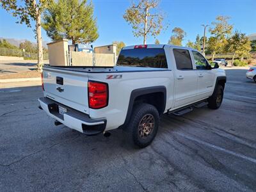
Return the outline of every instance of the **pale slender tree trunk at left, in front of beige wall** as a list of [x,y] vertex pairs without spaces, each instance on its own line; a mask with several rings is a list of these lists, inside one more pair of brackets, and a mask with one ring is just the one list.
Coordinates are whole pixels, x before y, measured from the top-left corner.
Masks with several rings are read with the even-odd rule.
[[36,7],[36,0],[33,0],[33,4],[36,8],[37,70],[42,71],[42,67],[44,66],[44,57],[41,33],[41,12]]

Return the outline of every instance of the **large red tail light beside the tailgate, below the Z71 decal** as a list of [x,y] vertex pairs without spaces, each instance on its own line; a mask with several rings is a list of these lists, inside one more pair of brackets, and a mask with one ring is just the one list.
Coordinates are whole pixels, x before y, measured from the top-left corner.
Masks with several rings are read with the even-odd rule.
[[108,106],[108,84],[88,81],[89,108],[100,109]]

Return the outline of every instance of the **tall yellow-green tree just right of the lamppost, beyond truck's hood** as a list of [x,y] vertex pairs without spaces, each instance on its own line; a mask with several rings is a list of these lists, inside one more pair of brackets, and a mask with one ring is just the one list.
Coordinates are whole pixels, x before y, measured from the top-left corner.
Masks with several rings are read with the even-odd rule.
[[211,41],[213,42],[214,40],[215,43],[211,44],[212,61],[216,53],[223,51],[227,44],[227,38],[232,33],[233,26],[228,24],[229,19],[230,17],[218,16],[216,17],[216,21],[212,22],[213,28],[209,29],[209,32],[214,37]]

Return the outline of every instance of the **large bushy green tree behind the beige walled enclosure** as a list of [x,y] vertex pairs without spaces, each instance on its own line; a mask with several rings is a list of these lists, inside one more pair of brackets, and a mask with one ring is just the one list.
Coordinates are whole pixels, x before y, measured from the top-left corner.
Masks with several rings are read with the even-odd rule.
[[42,26],[52,40],[67,38],[72,44],[94,42],[99,34],[92,1],[52,1],[44,12]]

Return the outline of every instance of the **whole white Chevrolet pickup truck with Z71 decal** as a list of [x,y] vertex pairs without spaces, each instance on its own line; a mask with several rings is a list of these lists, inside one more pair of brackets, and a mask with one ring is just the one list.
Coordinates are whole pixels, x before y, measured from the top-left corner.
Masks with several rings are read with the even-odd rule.
[[149,145],[164,113],[218,109],[225,71],[188,47],[124,47],[115,67],[51,67],[42,72],[40,109],[87,135],[124,129],[138,147]]

